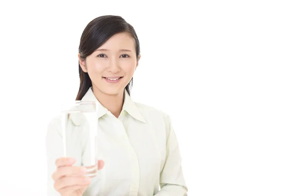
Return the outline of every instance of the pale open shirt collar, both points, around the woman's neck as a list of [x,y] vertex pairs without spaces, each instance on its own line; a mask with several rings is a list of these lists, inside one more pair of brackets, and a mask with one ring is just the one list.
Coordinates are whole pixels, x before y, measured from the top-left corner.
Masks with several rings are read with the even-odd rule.
[[[95,101],[97,118],[100,118],[103,115],[109,113],[108,109],[105,108],[103,105],[101,105],[101,103],[94,96],[93,91],[92,91],[92,87],[90,87],[89,90],[86,92],[86,94],[82,98],[82,101]],[[122,107],[122,112],[123,111],[126,111],[134,119],[141,121],[143,123],[147,123],[146,120],[144,119],[144,117],[142,116],[139,108],[135,105],[135,103],[130,98],[126,89],[124,89],[124,104]]]

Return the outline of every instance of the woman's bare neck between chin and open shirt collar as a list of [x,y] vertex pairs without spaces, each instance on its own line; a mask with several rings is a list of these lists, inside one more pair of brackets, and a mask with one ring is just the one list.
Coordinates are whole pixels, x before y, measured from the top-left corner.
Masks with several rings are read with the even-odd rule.
[[107,108],[116,118],[118,118],[123,107],[124,91],[117,95],[108,95],[100,91],[95,86],[92,87],[92,91],[100,104]]

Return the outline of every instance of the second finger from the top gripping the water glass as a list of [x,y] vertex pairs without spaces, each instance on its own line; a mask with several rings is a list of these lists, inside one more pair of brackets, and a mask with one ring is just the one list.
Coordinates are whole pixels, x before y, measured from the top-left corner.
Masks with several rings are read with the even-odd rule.
[[84,167],[64,166],[57,168],[57,171],[52,174],[52,179],[56,181],[63,176],[80,176],[87,173],[87,169]]

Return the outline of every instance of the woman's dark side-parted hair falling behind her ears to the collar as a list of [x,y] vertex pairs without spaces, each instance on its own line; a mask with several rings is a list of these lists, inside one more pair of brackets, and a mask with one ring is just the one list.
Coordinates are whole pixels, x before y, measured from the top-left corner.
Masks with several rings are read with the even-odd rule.
[[[109,38],[113,35],[127,32],[135,40],[136,56],[139,58],[140,46],[137,34],[132,25],[128,24],[122,17],[106,15],[100,16],[93,19],[84,29],[79,45],[79,53],[82,59],[86,59],[87,56],[92,54],[92,52],[102,46]],[[79,65],[79,76],[80,76],[80,87],[76,100],[81,100],[89,88],[92,86],[90,77],[88,73],[83,72]],[[132,87],[133,78],[127,84],[125,89],[130,95]]]

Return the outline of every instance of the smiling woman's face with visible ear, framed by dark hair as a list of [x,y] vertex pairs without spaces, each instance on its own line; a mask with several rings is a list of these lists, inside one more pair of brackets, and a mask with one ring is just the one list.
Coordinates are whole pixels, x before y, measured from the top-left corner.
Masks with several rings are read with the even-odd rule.
[[131,80],[138,60],[134,38],[118,33],[90,54],[80,58],[82,70],[89,74],[93,88],[109,95],[121,94]]

